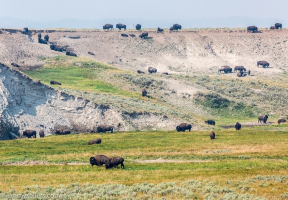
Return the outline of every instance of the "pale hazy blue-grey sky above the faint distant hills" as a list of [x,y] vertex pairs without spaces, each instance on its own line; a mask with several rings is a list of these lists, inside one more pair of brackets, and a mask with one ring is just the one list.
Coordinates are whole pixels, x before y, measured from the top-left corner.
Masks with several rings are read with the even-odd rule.
[[243,16],[282,21],[288,19],[287,9],[288,0],[3,0],[0,17],[41,22],[71,18],[108,22]]

